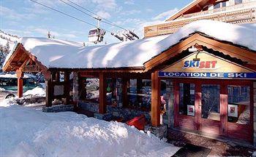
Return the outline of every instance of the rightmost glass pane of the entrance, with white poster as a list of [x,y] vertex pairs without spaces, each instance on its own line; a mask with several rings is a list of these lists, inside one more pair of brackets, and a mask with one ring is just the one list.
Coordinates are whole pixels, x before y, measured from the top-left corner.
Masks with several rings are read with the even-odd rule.
[[227,86],[227,121],[236,124],[249,124],[250,119],[249,86]]

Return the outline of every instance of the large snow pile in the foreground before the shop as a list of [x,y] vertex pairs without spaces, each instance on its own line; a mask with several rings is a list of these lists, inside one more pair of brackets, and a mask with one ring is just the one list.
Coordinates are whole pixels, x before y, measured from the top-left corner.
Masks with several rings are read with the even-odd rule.
[[77,113],[0,108],[0,156],[172,156],[179,149],[127,124]]

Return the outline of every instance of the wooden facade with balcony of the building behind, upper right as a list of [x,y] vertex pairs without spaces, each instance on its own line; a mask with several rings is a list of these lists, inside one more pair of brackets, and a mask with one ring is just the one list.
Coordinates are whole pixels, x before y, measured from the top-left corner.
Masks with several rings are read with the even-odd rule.
[[152,37],[175,33],[179,28],[196,20],[217,20],[233,24],[256,23],[256,1],[234,4],[233,0],[230,0],[228,1],[230,6],[203,10],[204,7],[218,2],[221,1],[193,1],[192,4],[169,17],[165,23],[146,26],[144,36]]

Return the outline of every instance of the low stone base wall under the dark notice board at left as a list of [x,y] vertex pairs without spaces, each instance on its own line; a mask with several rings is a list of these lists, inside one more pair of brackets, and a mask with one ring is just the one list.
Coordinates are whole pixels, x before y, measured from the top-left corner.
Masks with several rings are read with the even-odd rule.
[[53,105],[51,107],[42,107],[42,112],[57,113],[65,111],[74,111],[74,105]]

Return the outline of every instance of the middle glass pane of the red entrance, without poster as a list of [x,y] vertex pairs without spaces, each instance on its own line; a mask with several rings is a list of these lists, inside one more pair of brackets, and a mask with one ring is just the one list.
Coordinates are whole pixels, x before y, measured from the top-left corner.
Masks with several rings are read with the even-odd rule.
[[202,118],[220,121],[219,116],[219,89],[216,84],[203,84],[202,86]]

